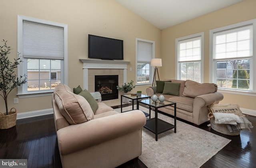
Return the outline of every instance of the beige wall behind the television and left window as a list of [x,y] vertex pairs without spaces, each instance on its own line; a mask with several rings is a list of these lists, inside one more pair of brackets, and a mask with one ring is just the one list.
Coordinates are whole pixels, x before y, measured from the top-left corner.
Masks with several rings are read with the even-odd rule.
[[[0,39],[8,40],[13,49],[10,58],[17,56],[17,15],[68,25],[71,88],[83,86],[83,65],[79,59],[88,58],[88,34],[124,40],[124,60],[131,61],[128,81],[135,80],[135,38],[155,41],[156,56],[160,56],[161,31],[114,0],[7,0],[1,3]],[[17,90],[13,90],[9,95],[8,108],[15,107],[18,113],[52,108],[51,96],[19,98],[19,104],[13,104],[16,94]],[[5,112],[3,100],[0,100],[0,111]]]

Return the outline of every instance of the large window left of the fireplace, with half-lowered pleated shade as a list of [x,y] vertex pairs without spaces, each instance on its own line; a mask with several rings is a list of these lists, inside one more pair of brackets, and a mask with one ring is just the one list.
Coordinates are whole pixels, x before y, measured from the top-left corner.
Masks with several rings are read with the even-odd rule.
[[27,83],[18,88],[19,97],[47,95],[66,83],[66,45],[66,25],[18,16],[18,52],[23,61],[18,74],[27,76]]

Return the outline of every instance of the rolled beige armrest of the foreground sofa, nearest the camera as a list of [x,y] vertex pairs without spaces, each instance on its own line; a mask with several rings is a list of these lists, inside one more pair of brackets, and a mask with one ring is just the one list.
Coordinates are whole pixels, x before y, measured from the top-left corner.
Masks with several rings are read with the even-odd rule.
[[66,155],[107,142],[139,130],[145,124],[145,114],[132,110],[67,126],[57,131],[60,153]]

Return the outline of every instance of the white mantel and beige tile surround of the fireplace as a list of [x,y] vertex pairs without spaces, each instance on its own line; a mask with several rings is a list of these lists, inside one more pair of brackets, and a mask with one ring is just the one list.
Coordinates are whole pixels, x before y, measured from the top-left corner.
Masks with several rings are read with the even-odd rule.
[[[118,75],[118,85],[127,82],[127,64],[130,61],[121,60],[96,60],[96,59],[80,59],[83,62],[84,89],[94,92],[95,75]],[[120,103],[119,99],[106,100],[112,103]]]

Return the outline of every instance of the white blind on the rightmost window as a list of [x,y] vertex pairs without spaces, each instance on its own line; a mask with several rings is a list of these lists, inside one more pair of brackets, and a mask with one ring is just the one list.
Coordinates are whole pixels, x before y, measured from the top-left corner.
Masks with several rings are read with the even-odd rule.
[[214,33],[214,60],[252,57],[252,25]]

